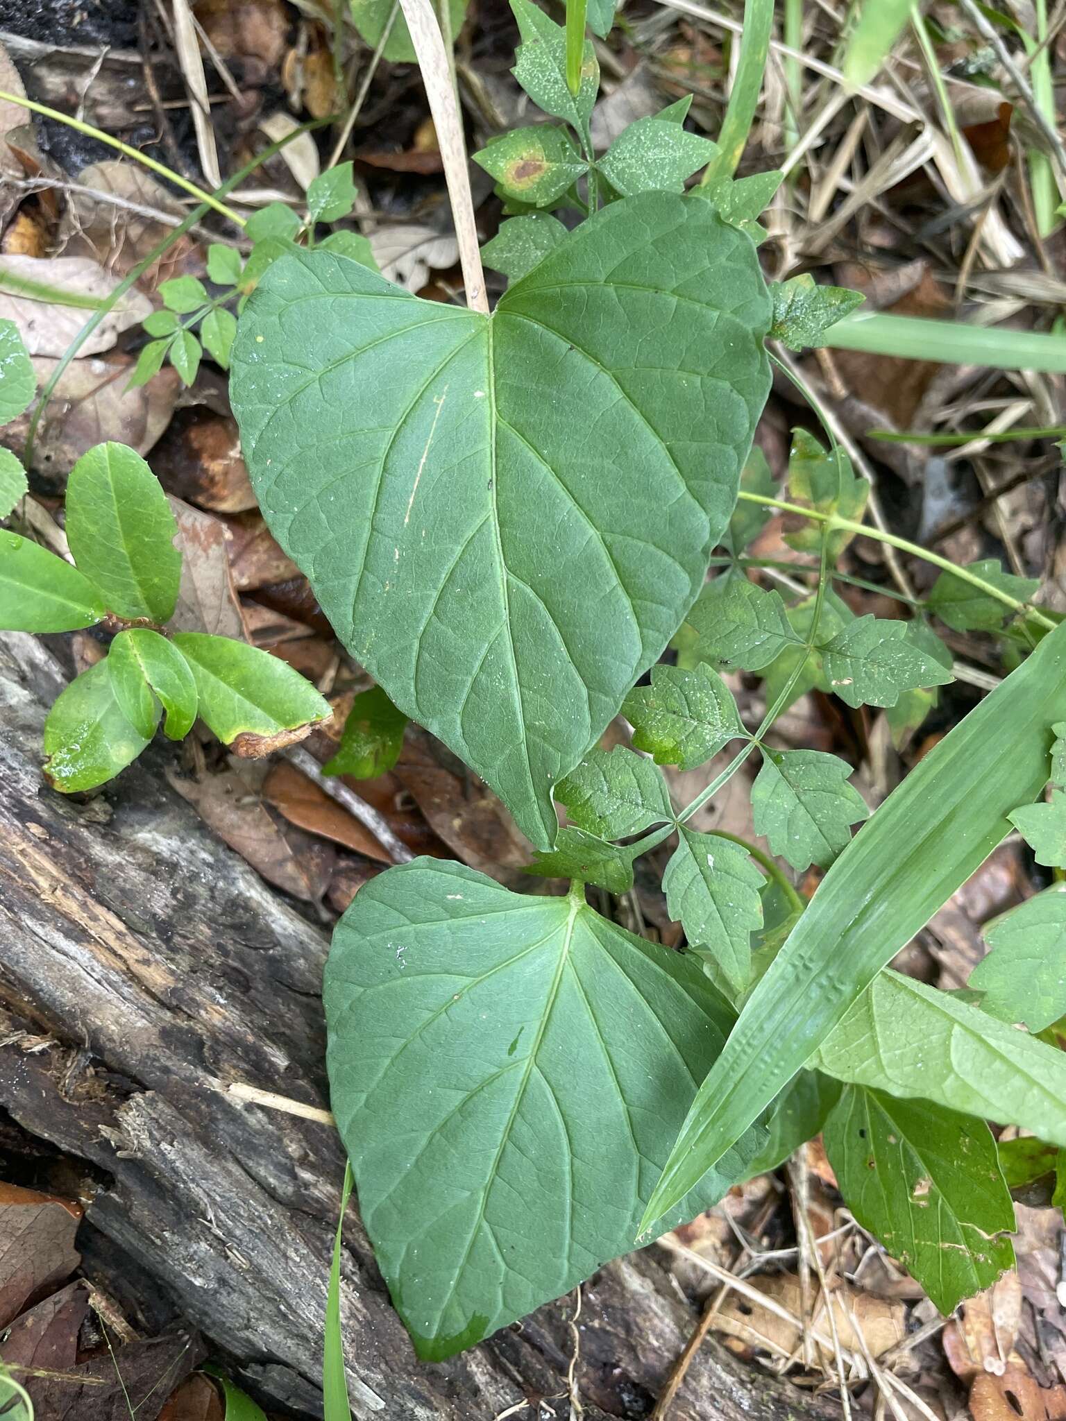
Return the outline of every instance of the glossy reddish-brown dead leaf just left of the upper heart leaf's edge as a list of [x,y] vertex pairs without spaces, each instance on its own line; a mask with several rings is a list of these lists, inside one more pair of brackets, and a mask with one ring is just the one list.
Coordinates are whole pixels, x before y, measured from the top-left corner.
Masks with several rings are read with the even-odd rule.
[[156,446],[152,469],[168,493],[210,513],[256,507],[232,415],[199,405],[179,409]]

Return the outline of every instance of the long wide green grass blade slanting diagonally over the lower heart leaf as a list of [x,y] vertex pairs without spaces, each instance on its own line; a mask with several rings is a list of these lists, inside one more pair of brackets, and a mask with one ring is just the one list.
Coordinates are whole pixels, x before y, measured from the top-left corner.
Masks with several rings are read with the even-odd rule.
[[[671,1208],[741,1137],[877,972],[992,853],[1018,800],[1039,793],[1048,779],[1050,728],[1062,715],[1063,678],[1066,628],[1057,627],[918,762],[833,864],[704,1081],[645,1223]],[[964,1010],[949,998],[942,1003]],[[995,1025],[994,1017],[974,1015]],[[1015,1043],[1016,1053],[1030,1046],[1055,1054],[1013,1034],[1022,1043]],[[912,1040],[925,1036],[915,1032]],[[880,1088],[880,1081],[860,1084]],[[915,1093],[928,1094],[931,1084],[924,1079]],[[995,1118],[972,1104],[941,1103]]]

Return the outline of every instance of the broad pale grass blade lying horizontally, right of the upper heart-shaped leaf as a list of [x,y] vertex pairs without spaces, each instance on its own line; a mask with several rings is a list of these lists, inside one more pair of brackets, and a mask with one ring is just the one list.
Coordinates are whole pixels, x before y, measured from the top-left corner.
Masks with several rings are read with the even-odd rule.
[[1011,331],[967,321],[927,321],[920,315],[857,311],[830,325],[824,344],[840,351],[903,355],[947,365],[986,365],[989,369],[1032,369],[1066,374],[1066,337],[1042,331]]

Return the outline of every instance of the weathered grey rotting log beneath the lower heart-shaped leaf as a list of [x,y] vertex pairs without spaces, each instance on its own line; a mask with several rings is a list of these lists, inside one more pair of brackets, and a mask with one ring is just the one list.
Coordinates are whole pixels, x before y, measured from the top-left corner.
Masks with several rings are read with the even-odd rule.
[[[41,725],[61,686],[40,642],[0,637],[0,1104],[107,1181],[82,1225],[90,1273],[109,1249],[129,1259],[264,1403],[314,1415],[341,1150],[328,1128],[216,1083],[325,1103],[327,935],[169,789],[165,746],[88,804],[47,789]],[[567,1414],[573,1299],[425,1366],[354,1209],[345,1243],[360,1421],[492,1421],[523,1400],[520,1415]],[[587,1421],[648,1415],[696,1320],[655,1250],[601,1269],[578,1322]],[[708,1343],[672,1414],[799,1412],[839,1415]]]

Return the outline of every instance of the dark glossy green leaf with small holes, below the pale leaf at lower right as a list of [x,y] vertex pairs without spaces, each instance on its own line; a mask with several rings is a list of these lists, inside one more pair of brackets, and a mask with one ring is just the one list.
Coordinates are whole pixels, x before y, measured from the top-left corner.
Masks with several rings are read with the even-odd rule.
[[824,1141],[860,1226],[945,1316],[1013,1266],[1015,1209],[984,1120],[847,1086]]

